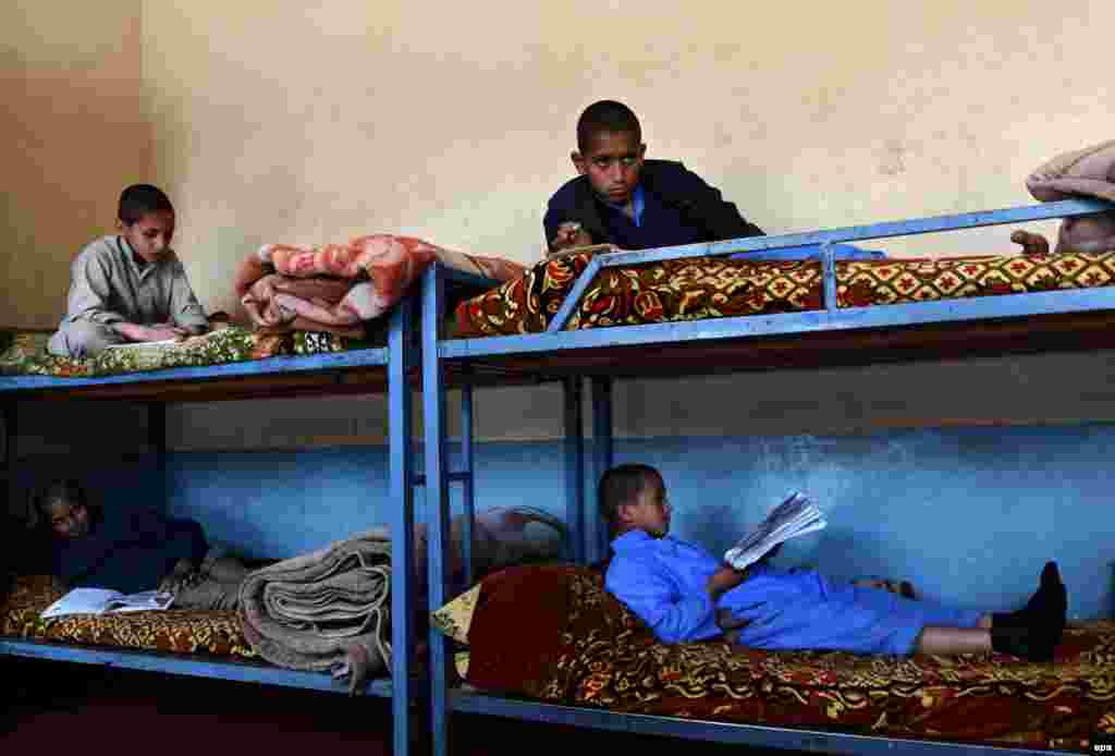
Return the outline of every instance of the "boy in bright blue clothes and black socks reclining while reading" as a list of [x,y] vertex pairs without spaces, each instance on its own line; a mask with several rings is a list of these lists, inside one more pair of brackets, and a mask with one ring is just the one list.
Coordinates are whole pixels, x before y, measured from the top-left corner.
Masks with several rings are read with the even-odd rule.
[[737,571],[668,535],[666,484],[647,465],[604,473],[599,502],[613,537],[605,588],[667,643],[727,633],[734,643],[768,650],[899,656],[993,650],[1050,661],[1065,628],[1068,597],[1054,562],[1019,611],[948,609],[764,561]]

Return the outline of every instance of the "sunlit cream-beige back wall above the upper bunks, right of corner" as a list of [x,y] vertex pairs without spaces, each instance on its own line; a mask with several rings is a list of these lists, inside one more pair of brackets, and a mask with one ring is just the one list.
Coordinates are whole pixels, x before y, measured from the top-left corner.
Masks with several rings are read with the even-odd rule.
[[264,241],[399,231],[534,259],[602,97],[768,232],[1027,203],[1041,161],[1111,137],[1099,0],[318,4],[144,6],[155,162],[211,307]]

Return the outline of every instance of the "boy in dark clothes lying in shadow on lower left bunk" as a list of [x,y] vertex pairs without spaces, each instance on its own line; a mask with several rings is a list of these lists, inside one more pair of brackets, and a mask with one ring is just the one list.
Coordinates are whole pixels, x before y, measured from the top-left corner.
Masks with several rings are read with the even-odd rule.
[[174,593],[175,609],[235,609],[248,569],[210,550],[201,525],[140,507],[91,506],[72,479],[36,498],[51,532],[51,574],[68,588]]

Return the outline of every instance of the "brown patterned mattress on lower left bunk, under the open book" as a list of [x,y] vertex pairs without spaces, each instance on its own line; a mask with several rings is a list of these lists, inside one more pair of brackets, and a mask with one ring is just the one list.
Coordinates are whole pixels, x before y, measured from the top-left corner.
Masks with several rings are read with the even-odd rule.
[[0,636],[145,651],[259,658],[241,632],[234,611],[171,609],[41,620],[39,614],[61,595],[60,590],[51,587],[49,575],[18,578],[11,595],[0,602]]

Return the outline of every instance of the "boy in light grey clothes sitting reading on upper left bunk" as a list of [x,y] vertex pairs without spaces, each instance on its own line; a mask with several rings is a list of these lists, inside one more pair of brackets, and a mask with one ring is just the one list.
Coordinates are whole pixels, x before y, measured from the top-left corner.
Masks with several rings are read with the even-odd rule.
[[91,357],[106,347],[176,341],[209,329],[186,271],[171,249],[174,206],[159,188],[120,194],[119,233],[90,242],[70,268],[66,317],[48,349]]

